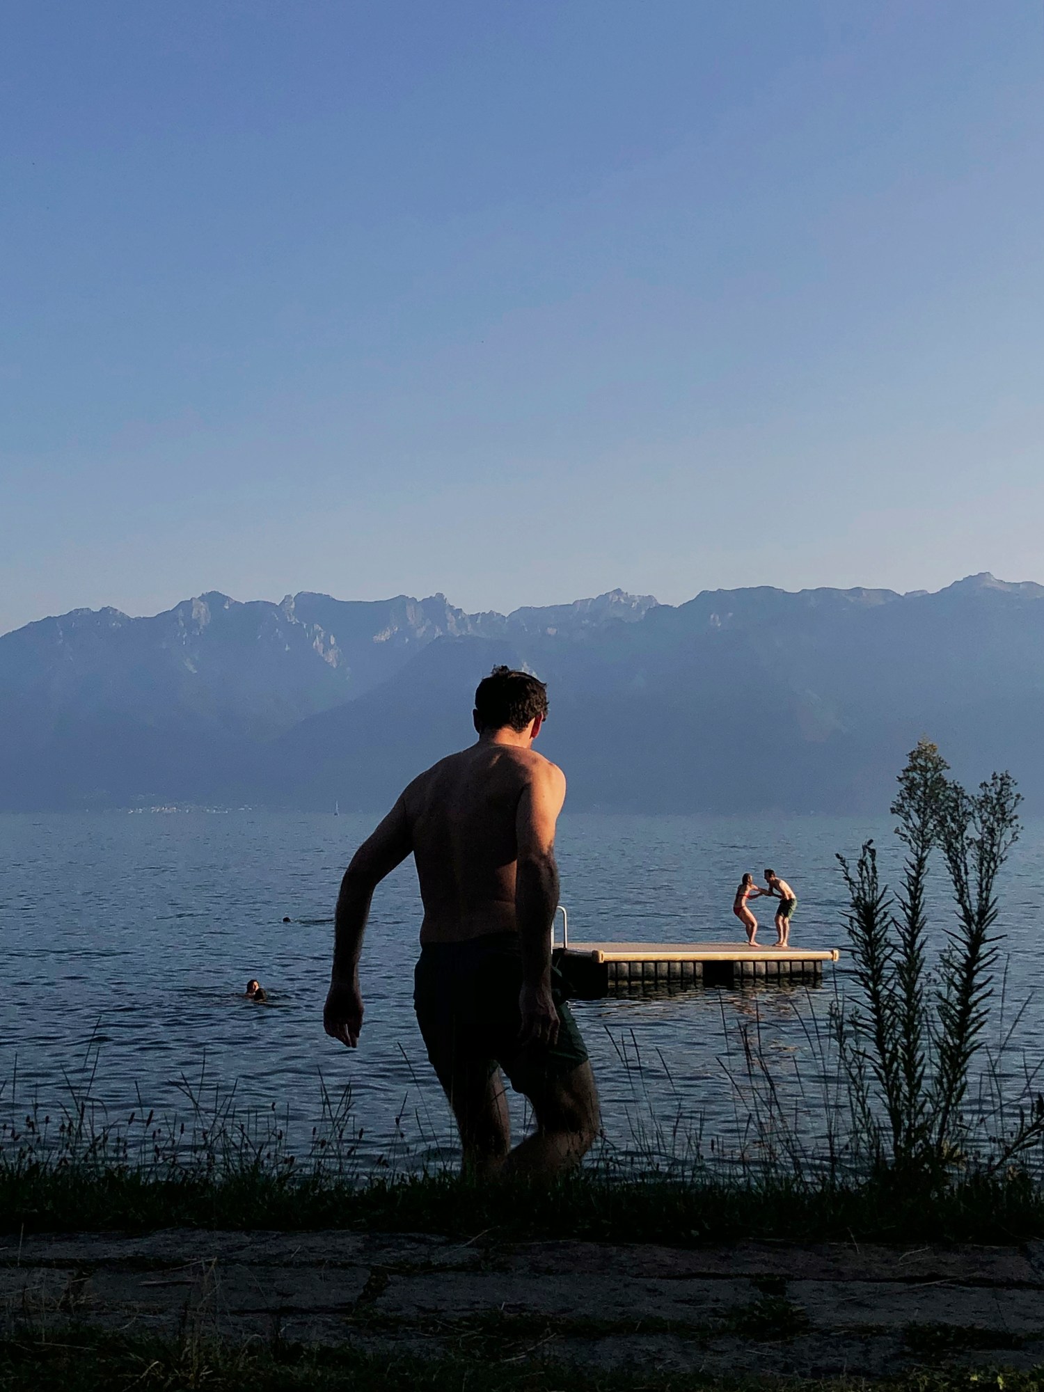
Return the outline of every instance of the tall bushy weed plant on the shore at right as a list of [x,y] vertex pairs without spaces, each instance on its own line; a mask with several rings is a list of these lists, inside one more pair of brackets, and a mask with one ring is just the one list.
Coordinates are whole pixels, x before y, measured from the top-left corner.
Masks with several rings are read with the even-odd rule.
[[[832,1026],[853,1132],[876,1171],[928,1186],[974,1166],[997,1172],[1044,1139],[1044,1097],[1005,1107],[994,1079],[1001,1134],[986,1153],[972,1144],[969,1089],[987,1044],[998,960],[997,878],[1019,837],[1022,799],[1011,774],[995,773],[969,793],[948,771],[938,748],[922,739],[899,774],[891,812],[905,856],[895,894],[880,880],[873,841],[855,866],[838,856],[860,1001],[839,1002]],[[931,970],[935,859],[945,867],[954,917]]]

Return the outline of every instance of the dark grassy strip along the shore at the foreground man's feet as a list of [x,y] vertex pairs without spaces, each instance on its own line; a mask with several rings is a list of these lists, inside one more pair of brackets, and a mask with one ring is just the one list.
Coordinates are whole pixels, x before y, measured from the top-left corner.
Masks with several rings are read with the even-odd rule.
[[1005,1246],[1044,1237],[1044,1187],[1023,1175],[920,1189],[891,1176],[838,1186],[580,1172],[537,1189],[451,1175],[348,1183],[260,1168],[168,1178],[114,1168],[0,1169],[0,1229],[7,1233],[161,1228],[373,1229],[677,1247],[756,1239]]

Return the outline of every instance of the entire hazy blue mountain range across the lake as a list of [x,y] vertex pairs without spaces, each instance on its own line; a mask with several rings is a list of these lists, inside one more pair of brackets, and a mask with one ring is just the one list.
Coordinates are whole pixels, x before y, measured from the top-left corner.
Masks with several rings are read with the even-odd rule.
[[443,594],[74,610],[0,638],[0,807],[377,810],[472,738],[496,663],[548,682],[569,806],[885,812],[916,739],[1044,809],[1044,586],[622,590],[466,614]]

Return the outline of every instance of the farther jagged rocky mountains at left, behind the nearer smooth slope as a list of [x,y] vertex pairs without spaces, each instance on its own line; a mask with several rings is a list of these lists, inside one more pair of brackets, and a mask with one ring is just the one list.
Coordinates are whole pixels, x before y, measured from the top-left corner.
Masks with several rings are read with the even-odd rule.
[[[654,603],[617,590],[555,606],[543,626],[590,635]],[[469,615],[441,594],[207,593],[148,618],[40,619],[0,638],[0,806],[228,796],[264,742],[388,681],[436,639],[540,628],[543,612]]]

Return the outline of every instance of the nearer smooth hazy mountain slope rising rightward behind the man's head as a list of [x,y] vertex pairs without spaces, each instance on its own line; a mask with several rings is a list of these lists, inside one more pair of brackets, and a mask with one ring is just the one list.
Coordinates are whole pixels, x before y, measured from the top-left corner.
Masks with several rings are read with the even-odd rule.
[[1044,589],[991,576],[908,597],[707,593],[597,643],[444,639],[365,702],[284,736],[276,782],[295,803],[384,805],[472,738],[470,695],[493,660],[550,682],[540,748],[567,768],[575,807],[884,810],[922,734],[962,777],[1011,767],[1044,806]]

